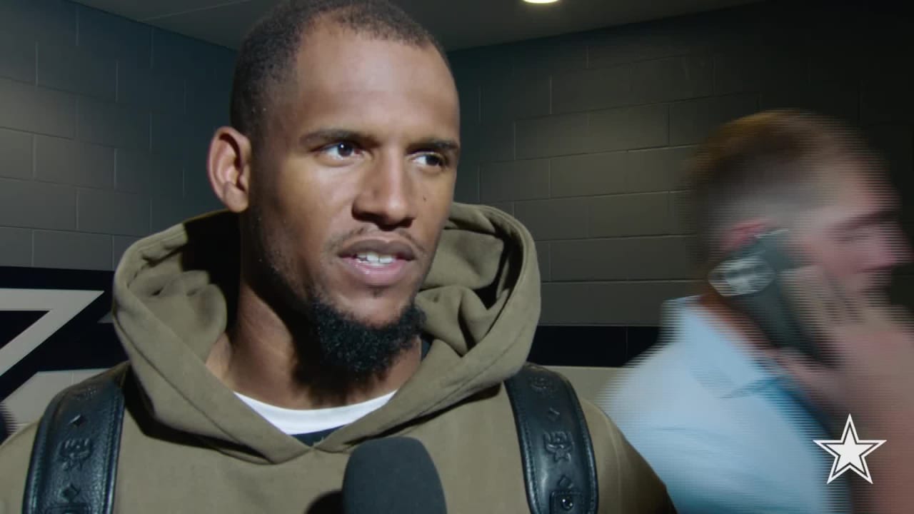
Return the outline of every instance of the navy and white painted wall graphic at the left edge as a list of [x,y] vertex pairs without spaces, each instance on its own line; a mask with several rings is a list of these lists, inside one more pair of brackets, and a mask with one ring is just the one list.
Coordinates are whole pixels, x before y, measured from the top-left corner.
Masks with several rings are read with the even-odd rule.
[[0,442],[63,387],[126,359],[102,319],[111,297],[110,271],[0,266]]

